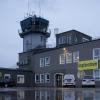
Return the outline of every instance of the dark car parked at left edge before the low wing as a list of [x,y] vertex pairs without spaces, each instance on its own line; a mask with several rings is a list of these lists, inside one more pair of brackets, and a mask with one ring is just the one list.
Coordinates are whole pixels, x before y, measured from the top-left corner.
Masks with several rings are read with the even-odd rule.
[[0,79],[0,87],[12,87],[15,85],[15,81],[12,79]]

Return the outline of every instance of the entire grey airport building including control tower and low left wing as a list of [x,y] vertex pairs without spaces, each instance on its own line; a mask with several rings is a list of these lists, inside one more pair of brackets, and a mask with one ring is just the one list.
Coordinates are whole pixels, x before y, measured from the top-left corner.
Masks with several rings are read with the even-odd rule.
[[[0,78],[12,78],[16,86],[63,86],[65,74],[75,76],[81,87],[84,76],[92,76],[100,86],[100,39],[76,30],[56,34],[56,47],[47,48],[49,21],[30,16],[20,22],[23,51],[17,69],[0,69]],[[48,31],[49,30],[49,31]]]

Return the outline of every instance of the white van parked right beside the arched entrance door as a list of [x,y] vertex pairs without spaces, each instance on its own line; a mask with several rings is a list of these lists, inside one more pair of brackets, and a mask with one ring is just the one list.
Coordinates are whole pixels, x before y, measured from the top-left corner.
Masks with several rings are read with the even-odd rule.
[[75,77],[73,74],[65,74],[63,80],[63,86],[74,86],[75,87]]

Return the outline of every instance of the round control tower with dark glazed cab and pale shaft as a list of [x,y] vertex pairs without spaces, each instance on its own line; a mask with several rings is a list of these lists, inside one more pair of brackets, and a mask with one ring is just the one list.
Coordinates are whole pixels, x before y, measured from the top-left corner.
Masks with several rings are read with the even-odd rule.
[[23,52],[46,48],[46,40],[50,37],[48,20],[34,15],[20,21],[20,25],[19,35],[23,38]]

